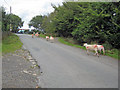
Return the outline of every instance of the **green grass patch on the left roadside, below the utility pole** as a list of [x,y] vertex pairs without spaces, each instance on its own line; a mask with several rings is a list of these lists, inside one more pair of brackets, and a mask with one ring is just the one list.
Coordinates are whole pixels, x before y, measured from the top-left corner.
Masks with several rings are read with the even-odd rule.
[[20,41],[19,37],[15,34],[12,34],[2,40],[2,53],[12,53],[17,49],[22,47],[22,42]]

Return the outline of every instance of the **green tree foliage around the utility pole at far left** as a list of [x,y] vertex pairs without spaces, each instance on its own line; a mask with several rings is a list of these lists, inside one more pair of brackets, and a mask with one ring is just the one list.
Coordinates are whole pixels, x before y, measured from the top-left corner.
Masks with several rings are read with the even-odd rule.
[[0,13],[2,13],[2,31],[10,31],[10,24],[12,32],[17,32],[18,27],[23,26],[23,21],[21,18],[15,14],[6,14],[5,8],[0,7]]

